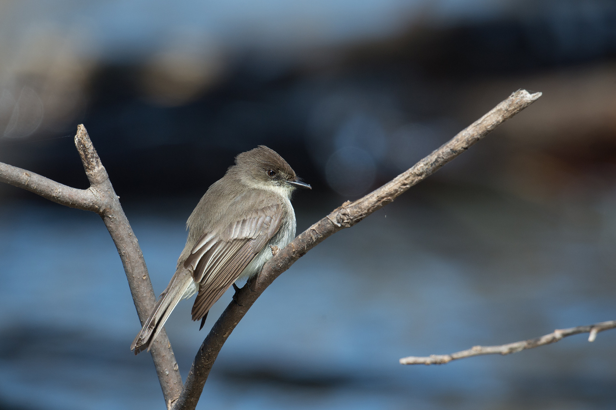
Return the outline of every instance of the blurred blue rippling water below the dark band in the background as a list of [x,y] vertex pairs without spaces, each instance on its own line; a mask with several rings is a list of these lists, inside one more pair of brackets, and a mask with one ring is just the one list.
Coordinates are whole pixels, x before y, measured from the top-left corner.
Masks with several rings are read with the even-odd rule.
[[[230,336],[198,408],[615,408],[614,331],[445,366],[398,363],[616,317],[610,203],[570,219],[462,192],[409,193],[302,257]],[[190,201],[126,206],[156,292],[184,246]],[[341,201],[299,203],[298,228]],[[164,409],[150,356],[129,350],[139,321],[100,218],[5,201],[0,232],[0,408]],[[201,332],[192,303],[172,314],[182,377],[229,301]]]

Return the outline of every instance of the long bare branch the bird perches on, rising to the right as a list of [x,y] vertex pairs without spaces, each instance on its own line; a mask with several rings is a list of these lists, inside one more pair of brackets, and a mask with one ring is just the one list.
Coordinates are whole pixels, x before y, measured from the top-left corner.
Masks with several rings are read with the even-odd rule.
[[197,356],[195,356],[195,361],[193,361],[192,368],[188,372],[182,395],[174,403],[174,410],[195,409],[209,371],[222,345],[241,318],[248,312],[248,309],[253,305],[257,297],[262,294],[275,278],[325,238],[343,228],[352,227],[372,212],[391,203],[397,196],[407,191],[408,188],[434,174],[440,167],[460,155],[460,153],[485,137],[485,135],[504,121],[524,110],[524,108],[535,102],[539,97],[541,97],[540,92],[535,94],[530,94],[526,90],[514,92],[505,101],[461,131],[453,139],[445,143],[445,145],[442,145],[442,147],[419,161],[411,169],[398,175],[391,182],[386,183],[383,187],[378,188],[363,198],[357,199],[357,201],[352,203],[347,201],[342,204],[341,207],[334,209],[325,218],[302,232],[284,249],[278,251],[269,262],[265,263],[257,278],[252,279],[236,292],[234,301],[229,303],[214,324],[203,344],[201,344]]

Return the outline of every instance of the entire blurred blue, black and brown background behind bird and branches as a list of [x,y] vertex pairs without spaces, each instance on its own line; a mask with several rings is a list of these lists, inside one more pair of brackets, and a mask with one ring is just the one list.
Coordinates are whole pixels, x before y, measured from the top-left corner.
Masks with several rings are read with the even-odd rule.
[[[614,409],[616,332],[401,366],[613,320],[616,4],[0,1],[0,161],[87,187],[84,123],[155,291],[185,220],[265,144],[312,191],[298,231],[519,88],[532,107],[328,238],[230,336],[200,409]],[[0,185],[0,409],[163,409],[100,218]],[[182,377],[206,329],[176,308]]]

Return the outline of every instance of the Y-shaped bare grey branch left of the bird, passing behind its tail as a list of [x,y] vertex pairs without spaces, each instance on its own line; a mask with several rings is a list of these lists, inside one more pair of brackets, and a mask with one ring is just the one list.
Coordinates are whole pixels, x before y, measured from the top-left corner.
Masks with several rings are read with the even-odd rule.
[[[107,171],[100,162],[99,155],[96,153],[83,125],[79,125],[77,128],[75,146],[79,151],[87,178],[91,183],[87,190],[67,187],[34,174],[34,172],[4,163],[0,163],[0,182],[24,188],[65,206],[99,214],[118,249],[139,320],[143,322],[147,320],[156,303],[154,289],[145,266],[144,255],[120,205],[120,200],[113,190]],[[171,401],[175,400],[180,394],[182,377],[180,377],[176,359],[164,329],[156,338],[156,343],[152,346],[150,352],[165,402],[169,406]]]

